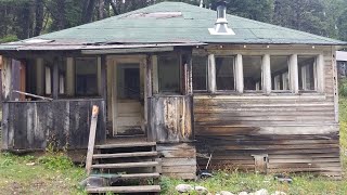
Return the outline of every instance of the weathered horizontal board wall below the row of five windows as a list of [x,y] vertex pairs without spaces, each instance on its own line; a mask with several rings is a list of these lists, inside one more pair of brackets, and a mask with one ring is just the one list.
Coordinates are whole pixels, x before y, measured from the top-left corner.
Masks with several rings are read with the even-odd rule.
[[[304,52],[304,51],[303,51]],[[305,53],[305,52],[304,52]],[[324,93],[195,94],[197,153],[213,167],[339,177],[338,112],[333,51],[324,52]],[[200,166],[206,159],[198,158]]]

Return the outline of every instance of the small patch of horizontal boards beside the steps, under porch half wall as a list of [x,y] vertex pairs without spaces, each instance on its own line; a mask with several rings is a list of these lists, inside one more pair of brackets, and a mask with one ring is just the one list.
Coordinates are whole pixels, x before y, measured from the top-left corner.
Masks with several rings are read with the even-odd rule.
[[158,144],[162,174],[178,179],[196,178],[196,151],[190,143]]

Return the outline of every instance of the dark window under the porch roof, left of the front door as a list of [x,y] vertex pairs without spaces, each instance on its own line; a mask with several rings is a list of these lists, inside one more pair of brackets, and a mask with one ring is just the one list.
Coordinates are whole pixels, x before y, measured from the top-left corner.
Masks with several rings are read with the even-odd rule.
[[98,95],[98,58],[76,58],[76,95]]

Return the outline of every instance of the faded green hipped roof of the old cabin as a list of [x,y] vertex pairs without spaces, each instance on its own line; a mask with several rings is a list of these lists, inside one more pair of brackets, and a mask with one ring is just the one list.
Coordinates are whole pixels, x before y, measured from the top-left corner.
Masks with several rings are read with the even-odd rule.
[[[344,41],[234,15],[228,14],[227,20],[229,27],[234,30],[235,35],[210,35],[208,28],[213,28],[215,25],[216,11],[182,2],[162,2],[123,15],[42,35],[37,38],[54,40],[56,44],[60,42],[68,44],[174,42],[347,44]],[[0,46],[0,50],[11,50],[16,44],[23,46],[25,41],[11,46]]]

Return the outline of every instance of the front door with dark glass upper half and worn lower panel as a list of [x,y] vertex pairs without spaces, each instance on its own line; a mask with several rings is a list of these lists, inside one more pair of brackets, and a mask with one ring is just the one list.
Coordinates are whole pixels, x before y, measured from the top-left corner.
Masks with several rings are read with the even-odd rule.
[[143,82],[140,64],[116,64],[114,135],[144,134]]

